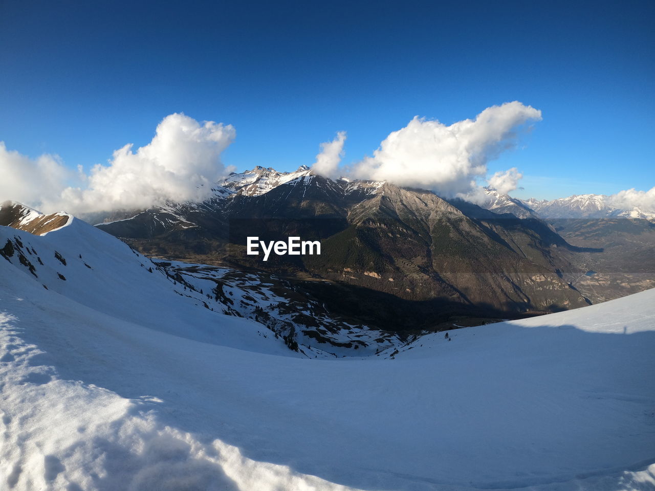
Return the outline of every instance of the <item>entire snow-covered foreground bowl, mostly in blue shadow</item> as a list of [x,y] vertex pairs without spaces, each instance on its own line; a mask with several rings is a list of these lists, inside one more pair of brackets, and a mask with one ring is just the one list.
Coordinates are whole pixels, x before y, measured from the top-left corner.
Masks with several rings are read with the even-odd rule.
[[0,489],[655,488],[653,290],[314,360],[77,220],[14,238]]

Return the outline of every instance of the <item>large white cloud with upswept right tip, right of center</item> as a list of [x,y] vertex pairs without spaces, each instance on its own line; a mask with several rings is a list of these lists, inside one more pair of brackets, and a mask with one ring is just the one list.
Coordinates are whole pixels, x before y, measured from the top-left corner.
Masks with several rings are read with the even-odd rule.
[[[539,120],[541,111],[518,101],[487,107],[475,119],[450,126],[415,117],[386,137],[373,156],[355,164],[352,175],[446,197],[476,194],[476,180],[487,175],[487,162],[514,148],[527,123]],[[517,176],[511,170],[501,173],[496,185],[511,187]]]

